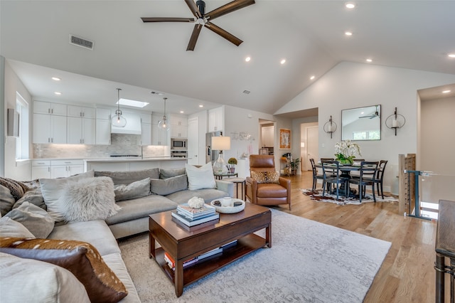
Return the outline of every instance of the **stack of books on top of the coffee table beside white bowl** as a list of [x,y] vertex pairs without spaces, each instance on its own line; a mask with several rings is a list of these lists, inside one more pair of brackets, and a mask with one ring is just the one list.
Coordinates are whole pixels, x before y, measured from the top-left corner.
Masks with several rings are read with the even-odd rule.
[[215,211],[213,206],[208,204],[204,204],[201,208],[192,208],[188,206],[188,203],[184,203],[177,206],[176,211],[172,212],[172,217],[187,226],[194,226],[212,220],[219,220],[220,214]]

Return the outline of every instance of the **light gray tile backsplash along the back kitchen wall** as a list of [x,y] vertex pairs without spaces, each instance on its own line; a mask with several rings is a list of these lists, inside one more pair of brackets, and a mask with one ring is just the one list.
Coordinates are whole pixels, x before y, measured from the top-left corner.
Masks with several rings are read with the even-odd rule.
[[134,154],[144,157],[168,156],[168,148],[149,145],[141,147],[140,134],[111,134],[110,145],[33,144],[33,159],[47,158],[106,158],[111,155]]

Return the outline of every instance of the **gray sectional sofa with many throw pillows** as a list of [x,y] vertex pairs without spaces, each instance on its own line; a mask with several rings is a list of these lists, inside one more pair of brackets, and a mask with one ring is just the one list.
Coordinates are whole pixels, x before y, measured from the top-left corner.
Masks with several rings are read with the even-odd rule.
[[[200,169],[203,170],[203,168]],[[0,266],[0,302],[117,302],[117,299],[121,299],[119,302],[140,302],[137,290],[122,260],[116,239],[147,231],[149,214],[172,210],[178,204],[186,203],[193,196],[209,202],[215,198],[232,197],[233,195],[234,185],[232,183],[214,179],[210,182],[205,181],[205,178],[208,177],[208,169],[205,169],[202,178],[196,174],[195,179],[193,172],[186,173],[186,169],[90,171],[65,179],[41,179],[39,183],[28,183],[26,185],[31,188],[28,188],[23,196],[17,188],[5,186],[4,182],[11,180],[0,179],[3,182],[0,185],[2,216],[0,218],[0,237],[2,237],[0,238],[2,263]],[[193,180],[193,184],[191,180]],[[201,188],[204,187],[200,186],[201,181],[202,184],[208,184],[207,188]],[[110,209],[102,208],[100,213],[109,215],[114,213],[114,215],[97,218],[90,212],[87,215],[85,209],[71,209],[68,208],[71,207],[68,205],[65,206],[66,208],[61,205],[60,208],[56,208],[54,204],[56,202],[62,203],[62,200],[73,202],[75,197],[71,196],[72,194],[79,199],[78,201],[81,201],[80,195],[84,197],[82,201],[89,201],[87,209],[90,209],[92,206],[90,203],[96,202],[97,198],[107,199]],[[54,201],[52,201],[53,198]],[[57,199],[55,200],[55,198]],[[112,202],[113,198],[115,198],[115,202]],[[82,207],[85,207],[85,204]],[[75,218],[73,221],[55,219],[61,215],[58,212],[63,208],[70,213],[69,215],[64,214],[65,220]],[[43,213],[43,210],[46,211]],[[73,213],[71,213],[72,211]],[[81,218],[89,218],[89,220],[81,220]],[[43,237],[46,234],[48,234],[47,237]],[[116,291],[107,289],[111,295],[109,299],[103,299],[98,293],[93,294],[92,290],[89,290],[90,285],[87,286],[86,282],[83,282],[80,276],[71,270],[71,267],[43,260],[39,257],[40,254],[33,255],[32,253],[31,257],[32,250],[16,248],[16,246],[13,248],[11,243],[6,244],[11,237],[15,238],[13,239],[14,245],[20,243],[19,246],[26,245],[26,243],[22,243],[24,242],[22,239],[38,240],[33,238],[46,238],[44,241],[47,241],[47,244],[66,244],[65,241],[71,243],[70,240],[90,243],[99,252],[100,259],[105,264],[103,266],[107,265],[107,270],[112,270],[123,283],[124,288],[127,289],[126,297],[122,291],[118,290],[119,285],[116,286]],[[21,240],[16,238],[21,238]],[[35,247],[33,247],[34,249]],[[40,249],[38,248],[38,250]],[[85,255],[89,255],[85,248],[78,247],[77,250],[85,251]],[[48,251],[50,252],[50,250],[46,252]],[[53,251],[62,252],[62,250]],[[90,252],[90,248],[88,251]],[[68,252],[65,253],[68,255]],[[66,262],[70,257],[65,257],[65,253],[63,253],[63,260]],[[77,267],[81,266],[77,265]],[[66,270],[69,270],[70,273]],[[95,270],[95,273],[99,275],[100,269],[97,271]],[[48,272],[50,272],[49,275],[44,275]],[[100,275],[100,277],[102,276],[104,274]],[[92,278],[97,280],[96,277]],[[100,287],[92,288],[99,289]],[[84,293],[84,289],[87,294]]]

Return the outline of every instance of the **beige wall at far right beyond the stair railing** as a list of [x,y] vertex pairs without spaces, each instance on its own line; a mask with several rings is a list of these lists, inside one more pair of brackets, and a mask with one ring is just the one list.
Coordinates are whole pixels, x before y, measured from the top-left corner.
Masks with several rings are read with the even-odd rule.
[[422,201],[455,201],[455,97],[421,102],[420,170],[437,176],[421,182]]

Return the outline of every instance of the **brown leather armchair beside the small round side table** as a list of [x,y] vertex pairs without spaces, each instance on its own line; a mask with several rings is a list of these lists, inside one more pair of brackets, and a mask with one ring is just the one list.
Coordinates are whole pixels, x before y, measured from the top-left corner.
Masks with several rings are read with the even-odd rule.
[[[276,171],[274,156],[252,154],[250,156],[251,171]],[[260,182],[260,181],[259,181]],[[256,179],[247,176],[245,192],[247,200],[257,205],[289,204],[291,210],[291,180],[279,177],[276,183],[258,183]]]

